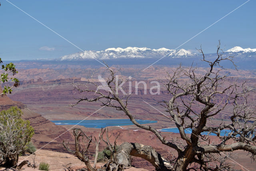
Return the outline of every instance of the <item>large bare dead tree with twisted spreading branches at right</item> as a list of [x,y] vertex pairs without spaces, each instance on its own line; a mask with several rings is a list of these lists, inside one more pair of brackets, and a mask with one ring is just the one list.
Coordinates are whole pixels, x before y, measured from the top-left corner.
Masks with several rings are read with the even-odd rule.
[[[168,73],[166,80],[163,81],[170,99],[160,102],[164,109],[162,115],[175,123],[184,142],[183,145],[172,139],[165,139],[154,127],[142,125],[135,120],[128,106],[130,95],[118,94],[118,86],[122,85],[123,80],[116,80],[114,70],[109,67],[110,76],[106,80],[105,90],[96,90],[95,87],[100,84],[93,79],[87,84],[72,83],[83,96],[71,106],[81,101],[100,101],[103,106],[114,107],[123,111],[134,125],[151,131],[162,144],[175,149],[178,153],[174,161],[168,162],[152,148],[148,149],[150,153],[144,154],[143,151],[138,155],[136,151],[142,146],[136,143],[124,143],[122,154],[118,153],[116,156],[116,162],[120,165],[129,166],[130,155],[138,155],[144,159],[151,157],[148,161],[154,161],[151,163],[154,163],[158,171],[185,171],[195,167],[205,171],[229,170],[230,166],[223,163],[224,160],[218,160],[218,155],[228,156],[227,152],[239,149],[250,153],[252,159],[256,155],[256,113],[255,107],[248,101],[253,91],[245,82],[238,84],[234,79],[229,78],[228,74],[221,74],[224,70],[221,66],[222,62],[233,63],[233,61],[230,57],[223,58],[220,44],[213,61],[205,58],[202,48],[199,52],[202,54],[202,61],[209,66],[206,72],[202,74],[197,72],[197,68],[180,66],[172,73]],[[92,87],[88,86],[90,84]],[[88,94],[85,95],[86,93]],[[94,97],[91,97],[92,93]],[[220,116],[227,107],[232,108],[228,111],[230,121],[223,121],[219,125],[212,124],[212,119]],[[185,133],[186,129],[191,133]],[[220,135],[223,130],[228,130],[224,136]],[[205,131],[208,134],[205,134]],[[220,142],[211,141],[210,133],[215,133]],[[134,149],[136,150],[133,151]]]

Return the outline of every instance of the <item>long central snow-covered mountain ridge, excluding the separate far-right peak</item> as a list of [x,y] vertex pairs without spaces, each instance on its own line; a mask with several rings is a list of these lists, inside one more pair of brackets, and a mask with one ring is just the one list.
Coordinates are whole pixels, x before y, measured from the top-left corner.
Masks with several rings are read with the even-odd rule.
[[108,48],[102,51],[84,51],[75,54],[65,55],[60,58],[60,60],[84,60],[93,59],[107,60],[115,58],[161,58],[163,56],[170,56],[172,58],[193,56],[194,54],[190,51],[181,50],[170,50],[166,48],[160,49],[149,49],[149,48],[137,48],[137,47],[127,47],[127,48]]

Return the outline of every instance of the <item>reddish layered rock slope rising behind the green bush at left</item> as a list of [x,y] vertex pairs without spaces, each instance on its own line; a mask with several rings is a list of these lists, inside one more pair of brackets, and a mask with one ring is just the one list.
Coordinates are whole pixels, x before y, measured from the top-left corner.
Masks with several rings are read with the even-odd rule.
[[48,119],[42,117],[42,115],[28,109],[23,103],[13,101],[6,95],[1,95],[0,111],[9,109],[11,106],[19,107],[23,111],[22,118],[30,121],[30,125],[34,128],[35,133],[32,141],[37,149],[43,147],[43,149],[50,149],[52,151],[66,151],[62,145],[62,141],[72,141],[71,135],[66,128],[55,125]]

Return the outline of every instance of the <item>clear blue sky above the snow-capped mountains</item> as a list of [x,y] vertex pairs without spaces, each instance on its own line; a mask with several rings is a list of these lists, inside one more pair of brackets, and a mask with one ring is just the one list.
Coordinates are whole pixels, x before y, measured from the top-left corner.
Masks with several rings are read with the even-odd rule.
[[[128,46],[174,49],[245,0],[10,0],[82,50]],[[0,0],[0,58],[59,58],[79,52],[11,4]],[[256,48],[256,1],[250,0],[181,48]]]

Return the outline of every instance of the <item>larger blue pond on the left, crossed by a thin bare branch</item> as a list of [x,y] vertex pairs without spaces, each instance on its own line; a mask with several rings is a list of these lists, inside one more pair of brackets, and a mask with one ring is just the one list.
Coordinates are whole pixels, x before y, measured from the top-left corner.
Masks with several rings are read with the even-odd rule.
[[[157,123],[157,121],[136,119],[140,124]],[[88,128],[104,128],[110,126],[133,125],[130,119],[99,119],[99,120],[59,120],[52,121],[56,125],[82,125]]]

